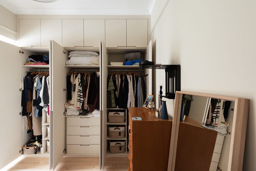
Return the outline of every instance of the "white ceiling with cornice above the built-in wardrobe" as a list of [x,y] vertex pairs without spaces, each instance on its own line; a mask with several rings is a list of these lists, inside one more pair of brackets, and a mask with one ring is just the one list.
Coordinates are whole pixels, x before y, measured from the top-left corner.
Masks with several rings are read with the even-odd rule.
[[156,0],[0,0],[15,14],[46,15],[150,15]]

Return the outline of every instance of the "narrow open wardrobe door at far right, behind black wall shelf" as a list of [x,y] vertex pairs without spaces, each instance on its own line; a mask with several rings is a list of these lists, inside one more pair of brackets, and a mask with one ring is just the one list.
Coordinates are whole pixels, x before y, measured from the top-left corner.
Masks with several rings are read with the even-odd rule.
[[[152,40],[150,40],[147,46],[146,60],[152,61]],[[147,94],[152,94],[152,69],[146,69],[145,74],[148,74],[146,77]]]

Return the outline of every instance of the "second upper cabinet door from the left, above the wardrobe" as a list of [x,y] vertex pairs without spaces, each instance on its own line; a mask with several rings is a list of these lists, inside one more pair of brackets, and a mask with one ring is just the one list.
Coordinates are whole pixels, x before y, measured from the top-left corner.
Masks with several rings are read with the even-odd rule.
[[49,40],[62,45],[61,19],[41,19],[41,46],[49,46]]

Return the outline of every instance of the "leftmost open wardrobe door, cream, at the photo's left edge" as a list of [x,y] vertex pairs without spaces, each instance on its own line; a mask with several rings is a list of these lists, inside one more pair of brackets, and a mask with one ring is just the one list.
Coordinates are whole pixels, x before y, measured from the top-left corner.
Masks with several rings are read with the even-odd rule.
[[[1,116],[1,160],[0,170],[20,156],[19,150],[22,149],[21,131],[24,130],[21,126],[21,120],[25,116],[20,116],[21,112],[21,56],[19,47],[0,41],[1,51],[1,89],[0,102],[2,104]],[[6,65],[12,61],[12,67]],[[25,131],[25,130],[24,130]]]

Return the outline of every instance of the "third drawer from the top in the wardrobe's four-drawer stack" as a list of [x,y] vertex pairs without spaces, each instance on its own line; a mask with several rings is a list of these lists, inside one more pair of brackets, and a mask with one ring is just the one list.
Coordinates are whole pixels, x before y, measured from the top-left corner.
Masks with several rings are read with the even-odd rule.
[[67,144],[100,144],[99,135],[67,135]]

